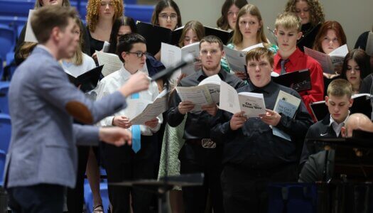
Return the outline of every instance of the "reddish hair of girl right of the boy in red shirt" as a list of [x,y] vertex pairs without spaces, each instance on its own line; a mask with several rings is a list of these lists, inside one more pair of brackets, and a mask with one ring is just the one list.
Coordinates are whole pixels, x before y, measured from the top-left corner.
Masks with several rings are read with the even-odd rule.
[[337,35],[337,39],[340,45],[345,45],[347,43],[345,31],[343,31],[340,23],[338,23],[337,21],[325,21],[325,23],[323,23],[323,26],[321,26],[320,30],[318,31],[318,35],[316,35],[315,43],[313,44],[313,50],[318,50],[319,52],[324,53],[321,43],[323,42],[325,35],[328,33],[328,30],[335,31],[335,35]]

